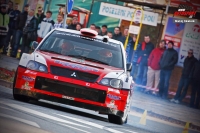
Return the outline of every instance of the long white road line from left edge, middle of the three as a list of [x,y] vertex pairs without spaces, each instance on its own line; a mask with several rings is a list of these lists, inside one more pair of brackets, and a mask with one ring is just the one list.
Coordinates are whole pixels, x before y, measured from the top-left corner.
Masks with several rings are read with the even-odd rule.
[[54,121],[67,123],[67,124],[71,124],[71,125],[76,125],[76,126],[80,126],[80,127],[85,127],[85,128],[90,128],[90,127],[87,127],[87,126],[83,126],[83,125],[80,125],[80,124],[76,124],[76,123],[73,123],[73,122],[70,122],[70,121],[66,121],[66,120],[54,117],[54,116],[51,116],[51,115],[47,115],[47,114],[29,109],[29,108],[20,106],[20,105],[4,103],[2,101],[0,101],[0,103],[5,104],[7,106],[10,106],[12,108],[18,109],[18,110],[21,110],[21,111],[24,111],[24,112],[27,112],[27,113],[31,113],[31,114],[34,114],[34,115],[37,115],[37,116],[40,116],[40,117],[44,117],[44,118],[47,118],[47,119],[51,119],[51,120],[54,120]]

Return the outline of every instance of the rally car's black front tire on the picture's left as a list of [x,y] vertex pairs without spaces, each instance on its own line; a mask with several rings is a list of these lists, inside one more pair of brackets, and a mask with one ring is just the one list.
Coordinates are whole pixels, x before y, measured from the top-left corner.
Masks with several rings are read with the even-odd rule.
[[30,98],[27,96],[23,96],[23,95],[19,95],[19,94],[15,94],[15,84],[16,84],[16,78],[17,78],[17,71],[15,72],[15,77],[14,77],[14,81],[13,81],[13,98],[15,100],[18,101],[22,101],[22,102],[29,102]]

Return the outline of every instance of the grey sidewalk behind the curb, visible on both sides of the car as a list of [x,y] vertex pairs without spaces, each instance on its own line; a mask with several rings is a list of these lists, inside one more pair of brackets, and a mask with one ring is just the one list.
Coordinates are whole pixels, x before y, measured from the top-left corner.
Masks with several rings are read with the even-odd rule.
[[[0,55],[0,67],[9,70],[16,69],[19,60]],[[2,82],[0,82],[1,85]],[[147,115],[163,121],[184,126],[190,122],[190,128],[200,131],[200,110],[192,109],[183,104],[174,104],[161,98],[135,91],[131,113],[142,114],[147,110]]]

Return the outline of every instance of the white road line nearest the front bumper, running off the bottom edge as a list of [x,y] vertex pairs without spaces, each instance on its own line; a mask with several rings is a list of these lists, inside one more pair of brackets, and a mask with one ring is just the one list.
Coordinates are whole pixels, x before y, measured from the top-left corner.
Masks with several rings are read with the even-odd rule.
[[[54,113],[54,114],[56,114],[56,113]],[[80,122],[80,123],[84,123],[84,124],[87,124],[87,125],[99,128],[99,129],[107,130],[107,131],[110,131],[112,133],[123,133],[123,132],[120,132],[120,131],[117,131],[117,130],[114,130],[114,129],[111,129],[111,128],[107,128],[105,126],[96,124],[96,123],[92,123],[92,122],[89,122],[89,121],[81,120],[81,119],[78,119],[78,118],[64,116],[64,115],[61,115],[61,114],[56,114],[56,115],[59,115],[59,116],[62,116],[62,117],[65,117],[65,118],[68,118],[68,119],[71,119],[71,120],[74,120],[74,121],[77,121],[77,122]]]

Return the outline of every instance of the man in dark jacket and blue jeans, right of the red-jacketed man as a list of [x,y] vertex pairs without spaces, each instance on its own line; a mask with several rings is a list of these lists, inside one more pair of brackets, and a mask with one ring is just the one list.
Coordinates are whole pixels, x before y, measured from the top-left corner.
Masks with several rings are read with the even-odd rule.
[[163,99],[167,99],[171,73],[178,61],[178,52],[174,50],[173,46],[174,42],[169,41],[168,49],[165,50],[160,60],[159,94]]

